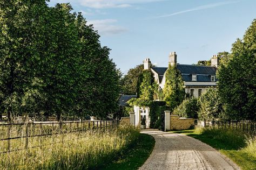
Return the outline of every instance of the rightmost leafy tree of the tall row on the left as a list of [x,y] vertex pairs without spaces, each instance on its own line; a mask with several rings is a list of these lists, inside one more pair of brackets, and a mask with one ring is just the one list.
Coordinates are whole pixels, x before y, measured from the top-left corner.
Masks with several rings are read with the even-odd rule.
[[118,109],[120,71],[109,59],[110,49],[100,46],[97,31],[92,25],[86,25],[81,13],[78,13],[76,22],[84,75],[73,112],[106,117],[107,113]]

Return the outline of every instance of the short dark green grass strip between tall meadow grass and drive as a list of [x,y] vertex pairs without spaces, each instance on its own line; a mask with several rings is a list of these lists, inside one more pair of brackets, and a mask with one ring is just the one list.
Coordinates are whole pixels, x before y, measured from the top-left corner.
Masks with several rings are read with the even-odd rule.
[[136,143],[133,143],[122,155],[116,160],[101,169],[138,169],[149,158],[155,140],[149,134],[140,133]]

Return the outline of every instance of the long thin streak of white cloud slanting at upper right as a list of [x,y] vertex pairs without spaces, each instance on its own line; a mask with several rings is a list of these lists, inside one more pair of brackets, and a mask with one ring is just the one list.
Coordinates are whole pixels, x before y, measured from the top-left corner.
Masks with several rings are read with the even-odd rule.
[[217,6],[223,6],[223,5],[227,5],[227,4],[234,4],[234,3],[238,3],[238,2],[239,1],[218,2],[218,3],[214,3],[214,4],[201,5],[201,6],[197,6],[196,8],[192,8],[192,9],[188,9],[188,10],[184,10],[184,11],[179,11],[179,12],[171,13],[169,15],[158,16],[156,18],[171,17],[171,16],[179,15],[181,13],[198,11],[198,10],[204,10],[204,9],[210,9],[210,8],[215,8]]

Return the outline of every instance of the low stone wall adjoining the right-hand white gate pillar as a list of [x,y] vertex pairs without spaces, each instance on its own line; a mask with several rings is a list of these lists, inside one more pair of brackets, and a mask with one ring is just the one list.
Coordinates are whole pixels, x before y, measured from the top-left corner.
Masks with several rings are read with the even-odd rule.
[[194,125],[193,118],[179,118],[178,115],[170,115],[170,130],[190,129]]

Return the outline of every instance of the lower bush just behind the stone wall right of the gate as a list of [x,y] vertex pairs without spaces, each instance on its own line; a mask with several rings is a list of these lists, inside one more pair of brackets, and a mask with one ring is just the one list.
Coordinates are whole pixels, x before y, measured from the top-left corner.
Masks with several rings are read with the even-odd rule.
[[185,98],[185,100],[173,110],[173,115],[186,118],[198,118],[199,103],[196,97]]

